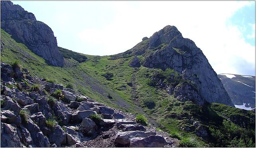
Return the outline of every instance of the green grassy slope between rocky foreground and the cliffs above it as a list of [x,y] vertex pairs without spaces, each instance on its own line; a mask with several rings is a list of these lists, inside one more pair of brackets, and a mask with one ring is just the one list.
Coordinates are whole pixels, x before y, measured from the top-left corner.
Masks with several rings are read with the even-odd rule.
[[[88,58],[87,61],[81,62],[77,66],[59,68],[45,64],[42,58],[33,54],[23,44],[16,43],[2,29],[1,40],[5,47],[1,52],[1,61],[13,62],[20,60],[22,66],[28,68],[32,76],[52,78],[57,83],[64,85],[71,82],[79,92],[111,107],[120,108],[130,113],[142,113],[139,111],[142,108],[149,117],[159,123],[162,130],[169,132],[174,137],[183,139],[183,141],[192,140],[192,145],[190,146],[201,147],[208,145],[207,142],[197,137],[194,132],[181,130],[181,127],[192,127],[193,123],[190,123],[189,117],[195,117],[209,129],[224,128],[223,131],[225,131],[228,129],[228,127],[225,127],[225,122],[230,122],[226,121],[226,118],[240,111],[240,109],[218,103],[202,107],[191,102],[177,101],[176,98],[169,95],[165,90],[148,86],[149,76],[158,69],[149,69],[144,66],[130,68],[128,62],[131,57],[128,56],[110,60],[109,56],[85,55]],[[28,54],[31,57],[25,58],[24,54]],[[138,56],[138,58],[143,60],[144,57]],[[70,63],[75,62],[73,58],[65,60],[68,60]],[[106,80],[102,76],[106,72],[114,75],[113,80]],[[129,83],[134,85],[129,86]],[[108,93],[110,93],[113,99],[108,99]],[[153,109],[149,109],[144,104],[146,100],[153,100],[156,106]],[[123,105],[123,107],[120,107],[120,105]],[[229,114],[223,115],[224,109],[230,111],[228,112]],[[252,111],[246,112],[255,116]],[[249,117],[248,114],[243,114],[242,116],[246,119],[253,118]],[[255,124],[255,117],[252,119],[252,123]],[[239,130],[243,129],[232,122],[230,124]],[[255,126],[254,128],[251,127],[250,130],[255,131]],[[230,136],[229,138],[233,137]]]

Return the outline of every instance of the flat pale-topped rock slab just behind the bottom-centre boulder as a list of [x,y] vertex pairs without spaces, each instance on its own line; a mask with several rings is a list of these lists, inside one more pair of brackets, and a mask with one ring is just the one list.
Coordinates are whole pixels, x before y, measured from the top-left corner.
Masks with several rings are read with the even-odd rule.
[[114,140],[118,144],[130,144],[130,139],[134,137],[146,138],[151,135],[156,135],[155,132],[143,132],[143,131],[128,131],[128,132],[118,132]]

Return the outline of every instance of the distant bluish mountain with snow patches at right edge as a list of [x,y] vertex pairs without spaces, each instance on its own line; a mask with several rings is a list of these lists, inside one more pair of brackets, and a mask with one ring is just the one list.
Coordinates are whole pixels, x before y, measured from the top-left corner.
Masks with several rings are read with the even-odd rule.
[[218,74],[235,107],[255,108],[255,76]]

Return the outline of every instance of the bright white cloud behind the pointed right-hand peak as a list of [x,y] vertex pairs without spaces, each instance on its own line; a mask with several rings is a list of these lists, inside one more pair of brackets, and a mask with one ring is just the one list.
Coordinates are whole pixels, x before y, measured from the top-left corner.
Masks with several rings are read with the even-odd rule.
[[[238,26],[226,25],[226,21],[236,10],[250,4],[246,1],[118,1],[113,2],[116,15],[112,22],[98,29],[84,28],[77,36],[85,45],[95,48],[94,55],[113,55],[131,49],[143,37],[150,37],[166,25],[175,25],[183,37],[196,43],[217,73],[236,74],[237,60],[255,65],[255,47],[246,43]],[[88,51],[93,53],[91,49]],[[88,54],[86,50],[83,53]]]

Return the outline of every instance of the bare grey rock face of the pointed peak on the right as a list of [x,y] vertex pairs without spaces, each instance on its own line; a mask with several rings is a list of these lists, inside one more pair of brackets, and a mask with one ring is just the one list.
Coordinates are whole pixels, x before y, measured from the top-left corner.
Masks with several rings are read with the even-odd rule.
[[183,38],[175,26],[164,27],[130,52],[143,55],[145,59],[142,65],[145,67],[171,68],[182,74],[183,78],[193,81],[206,101],[234,106],[203,52],[193,41]]

